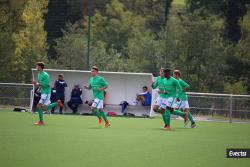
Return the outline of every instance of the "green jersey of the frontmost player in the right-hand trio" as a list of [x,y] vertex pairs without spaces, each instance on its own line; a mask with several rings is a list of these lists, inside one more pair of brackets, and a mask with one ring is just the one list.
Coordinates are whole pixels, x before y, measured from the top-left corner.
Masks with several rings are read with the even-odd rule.
[[178,80],[173,77],[170,77],[169,79],[165,78],[164,87],[167,97],[179,98],[179,93],[182,89]]

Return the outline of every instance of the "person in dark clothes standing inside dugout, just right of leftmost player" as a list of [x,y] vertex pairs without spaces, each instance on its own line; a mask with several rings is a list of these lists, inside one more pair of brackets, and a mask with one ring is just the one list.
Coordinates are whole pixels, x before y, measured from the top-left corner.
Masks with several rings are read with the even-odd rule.
[[[58,80],[55,81],[54,87],[56,89],[56,99],[61,100],[62,104],[65,101],[65,87],[67,87],[67,83],[64,79],[63,74],[58,75]],[[60,107],[59,114],[62,114],[63,107]]]

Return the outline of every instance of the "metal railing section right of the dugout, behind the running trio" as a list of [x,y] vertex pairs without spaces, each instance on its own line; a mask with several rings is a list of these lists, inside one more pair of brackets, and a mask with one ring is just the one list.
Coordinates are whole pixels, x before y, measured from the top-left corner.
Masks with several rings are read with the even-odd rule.
[[208,120],[250,122],[250,95],[188,92],[190,111]]

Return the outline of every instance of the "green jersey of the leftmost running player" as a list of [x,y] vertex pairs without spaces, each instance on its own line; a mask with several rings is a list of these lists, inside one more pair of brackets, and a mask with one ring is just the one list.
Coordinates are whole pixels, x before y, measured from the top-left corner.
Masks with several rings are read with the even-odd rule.
[[41,94],[50,94],[50,76],[45,71],[38,73]]

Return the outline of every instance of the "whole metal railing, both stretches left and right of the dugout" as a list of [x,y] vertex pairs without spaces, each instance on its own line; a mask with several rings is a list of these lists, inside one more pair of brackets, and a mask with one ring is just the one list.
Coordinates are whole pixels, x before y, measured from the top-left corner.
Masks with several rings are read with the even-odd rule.
[[[196,119],[250,122],[250,95],[188,92],[190,111]],[[0,83],[0,108],[30,110],[33,85]]]

